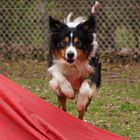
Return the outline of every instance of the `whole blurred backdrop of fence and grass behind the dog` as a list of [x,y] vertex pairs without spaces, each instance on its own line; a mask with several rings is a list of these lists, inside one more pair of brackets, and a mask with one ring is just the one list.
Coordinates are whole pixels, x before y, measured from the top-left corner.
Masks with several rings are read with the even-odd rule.
[[[48,15],[89,16],[95,0],[0,0],[0,73],[57,105],[48,88]],[[102,87],[86,118],[140,139],[140,0],[99,0],[97,40]],[[69,112],[77,115],[71,101]]]

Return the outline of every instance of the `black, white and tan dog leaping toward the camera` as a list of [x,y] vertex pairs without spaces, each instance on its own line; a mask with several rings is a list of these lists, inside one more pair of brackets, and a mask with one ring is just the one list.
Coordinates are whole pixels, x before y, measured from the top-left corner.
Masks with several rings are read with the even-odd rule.
[[48,73],[59,108],[67,111],[66,100],[76,98],[79,119],[83,119],[96,89],[101,85],[101,62],[96,41],[96,20],[70,13],[63,21],[49,16]]

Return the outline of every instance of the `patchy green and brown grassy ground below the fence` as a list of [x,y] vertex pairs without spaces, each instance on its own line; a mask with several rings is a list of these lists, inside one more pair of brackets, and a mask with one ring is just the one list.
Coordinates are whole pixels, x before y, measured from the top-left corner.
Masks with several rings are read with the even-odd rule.
[[[57,106],[56,96],[48,87],[46,63],[3,62],[1,66],[3,74]],[[113,78],[110,74],[112,71]],[[102,73],[102,87],[92,100],[84,119],[100,128],[139,140],[140,65],[119,68],[116,65],[103,66]],[[68,113],[77,117],[74,101],[68,101]]]

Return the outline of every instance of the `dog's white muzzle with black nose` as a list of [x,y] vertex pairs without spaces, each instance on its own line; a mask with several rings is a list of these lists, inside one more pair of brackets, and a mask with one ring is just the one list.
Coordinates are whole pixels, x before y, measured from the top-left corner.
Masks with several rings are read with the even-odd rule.
[[77,50],[75,47],[70,46],[65,52],[65,59],[68,63],[73,63],[77,59]]

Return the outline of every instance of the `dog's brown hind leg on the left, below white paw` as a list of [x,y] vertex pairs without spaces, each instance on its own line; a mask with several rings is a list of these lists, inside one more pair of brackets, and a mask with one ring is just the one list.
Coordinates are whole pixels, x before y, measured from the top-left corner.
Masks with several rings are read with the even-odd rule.
[[58,107],[66,112],[67,111],[66,96],[61,93],[60,96],[57,95],[57,99],[58,99]]

